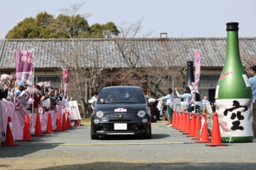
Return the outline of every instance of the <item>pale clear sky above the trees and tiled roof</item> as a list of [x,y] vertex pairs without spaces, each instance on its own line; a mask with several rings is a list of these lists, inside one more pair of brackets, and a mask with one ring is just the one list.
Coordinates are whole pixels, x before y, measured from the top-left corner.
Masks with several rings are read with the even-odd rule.
[[[87,0],[79,13],[89,13],[89,25],[112,21],[122,26],[143,18],[138,37],[226,37],[226,23],[239,22],[240,37],[256,37],[255,0]],[[1,0],[0,38],[27,17],[47,11],[54,17],[77,0]]]

